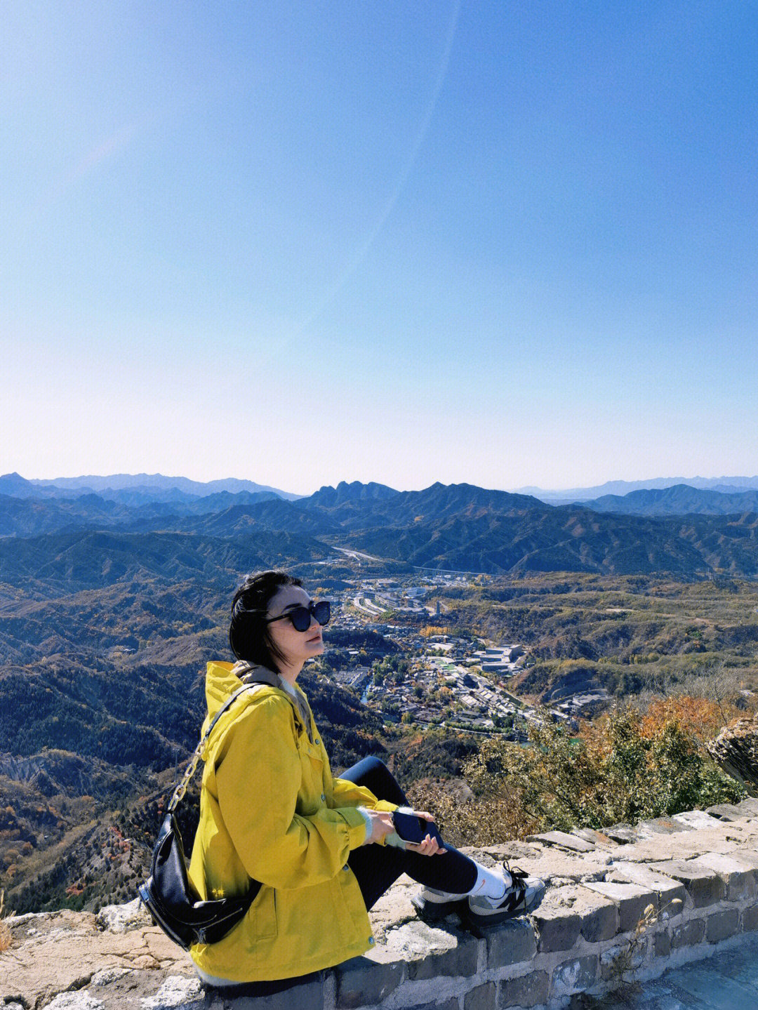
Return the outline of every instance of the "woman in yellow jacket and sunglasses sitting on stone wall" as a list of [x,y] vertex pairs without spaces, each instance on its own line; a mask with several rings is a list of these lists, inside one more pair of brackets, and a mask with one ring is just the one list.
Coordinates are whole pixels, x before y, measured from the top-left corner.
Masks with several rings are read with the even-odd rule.
[[431,834],[403,842],[393,811],[408,810],[406,797],[376,759],[332,778],[296,684],[323,651],[328,620],[329,603],[311,600],[300,580],[248,576],[229,628],[238,662],[208,664],[209,719],[244,683],[258,686],[211,734],[190,878],[204,900],[243,894],[250,879],[261,887],[226,936],[191,952],[205,982],[244,984],[249,995],[363,953],[373,942],[367,910],[403,873],[424,885],[414,903],[427,919],[455,909],[485,925],[531,911],[544,894],[542,881],[489,870]]

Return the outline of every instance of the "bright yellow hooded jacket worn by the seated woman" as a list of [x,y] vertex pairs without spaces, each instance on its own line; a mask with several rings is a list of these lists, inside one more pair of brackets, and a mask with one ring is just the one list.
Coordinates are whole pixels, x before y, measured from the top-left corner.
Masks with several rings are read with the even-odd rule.
[[[208,664],[203,731],[241,687],[230,663]],[[263,685],[243,693],[211,733],[190,880],[204,900],[243,894],[249,878],[262,886],[226,936],[192,947],[207,975],[289,979],[354,957],[372,942],[347,856],[365,840],[356,808],[396,807],[332,778],[307,701],[305,710],[310,726],[294,698]]]

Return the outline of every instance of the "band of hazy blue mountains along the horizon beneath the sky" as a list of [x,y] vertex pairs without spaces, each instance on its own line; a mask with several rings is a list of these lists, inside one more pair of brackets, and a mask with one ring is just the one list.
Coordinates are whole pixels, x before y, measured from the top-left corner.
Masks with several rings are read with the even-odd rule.
[[[47,484],[30,494],[36,487],[17,474],[0,478],[0,535],[15,541],[0,550],[0,579],[9,583],[33,571],[84,588],[144,565],[155,575],[163,562],[165,574],[189,575],[207,551],[220,550],[238,571],[242,559],[246,570],[317,561],[334,548],[409,569],[758,576],[758,490],[679,485],[558,506],[469,484],[396,491],[342,482],[294,500],[270,490],[199,497],[179,488],[151,498],[138,485],[138,500],[117,501]],[[163,498],[169,491],[175,500]]]

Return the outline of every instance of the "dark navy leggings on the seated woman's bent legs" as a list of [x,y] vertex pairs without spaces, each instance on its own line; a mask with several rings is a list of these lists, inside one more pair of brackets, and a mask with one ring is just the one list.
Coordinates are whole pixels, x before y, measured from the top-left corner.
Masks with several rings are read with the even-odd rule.
[[[405,793],[390,770],[377,758],[364,758],[341,776],[365,786],[380,800],[407,806]],[[348,857],[367,909],[395,883],[401,874],[426,887],[451,894],[467,894],[476,881],[476,864],[451,845],[436,855],[420,855],[390,845],[362,845],[353,848]]]

